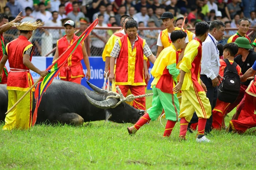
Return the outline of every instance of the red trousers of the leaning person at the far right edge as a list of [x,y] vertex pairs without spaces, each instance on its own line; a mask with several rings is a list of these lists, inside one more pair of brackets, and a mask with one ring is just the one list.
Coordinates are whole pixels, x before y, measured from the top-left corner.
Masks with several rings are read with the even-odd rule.
[[231,120],[229,123],[236,132],[244,133],[247,129],[256,127],[256,97],[253,97],[246,93],[245,106],[242,109],[238,120]]

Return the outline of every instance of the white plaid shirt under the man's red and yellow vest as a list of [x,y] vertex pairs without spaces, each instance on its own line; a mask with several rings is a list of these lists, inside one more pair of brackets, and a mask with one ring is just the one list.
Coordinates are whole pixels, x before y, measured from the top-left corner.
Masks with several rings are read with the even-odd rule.
[[[136,41],[138,41],[138,36],[136,36],[136,40],[132,43],[132,49],[133,49],[134,44],[135,44]],[[120,53],[120,50],[121,50],[121,47],[120,47],[120,45],[119,45],[118,40],[116,40],[116,43],[115,43],[115,45],[114,45],[113,50],[112,50],[111,53],[110,53],[110,56],[111,56],[111,57],[114,57],[114,58],[117,58],[118,55],[119,55],[119,53]],[[147,45],[147,42],[145,42],[145,45],[144,45],[144,47],[143,47],[143,54],[144,54],[146,57],[149,57],[150,55],[152,55],[152,52],[151,52],[150,48],[149,48],[148,45]]]

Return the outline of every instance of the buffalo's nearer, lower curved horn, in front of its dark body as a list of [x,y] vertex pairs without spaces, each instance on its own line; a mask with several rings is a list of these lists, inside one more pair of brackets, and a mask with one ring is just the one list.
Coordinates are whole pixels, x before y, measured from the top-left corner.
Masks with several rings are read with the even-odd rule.
[[94,100],[93,98],[89,97],[87,93],[84,91],[84,95],[87,98],[87,100],[97,108],[101,109],[109,109],[112,108],[114,105],[117,104],[118,100],[116,98],[109,98],[108,100],[103,100],[103,101],[97,101]]

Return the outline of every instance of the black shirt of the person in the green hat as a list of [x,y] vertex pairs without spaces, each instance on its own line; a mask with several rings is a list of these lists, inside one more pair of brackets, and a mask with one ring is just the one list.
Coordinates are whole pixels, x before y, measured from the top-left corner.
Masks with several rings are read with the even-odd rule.
[[[244,74],[249,68],[252,67],[256,60],[256,53],[254,51],[249,51],[248,56],[246,57],[245,61],[242,62],[242,55],[237,55],[234,58],[234,61],[241,67],[241,72]],[[241,84],[244,84],[248,86],[250,84],[251,80],[247,80],[245,82],[241,82]]]

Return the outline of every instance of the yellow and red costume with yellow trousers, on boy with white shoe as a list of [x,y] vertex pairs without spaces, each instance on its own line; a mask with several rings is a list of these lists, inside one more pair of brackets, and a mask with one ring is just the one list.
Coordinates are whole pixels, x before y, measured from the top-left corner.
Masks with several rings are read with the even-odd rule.
[[204,134],[206,119],[211,116],[210,101],[200,84],[201,58],[202,42],[200,39],[195,38],[188,43],[180,64],[180,69],[185,72],[181,87],[180,136],[186,135],[188,123],[195,111],[199,117],[198,134],[200,135]]

